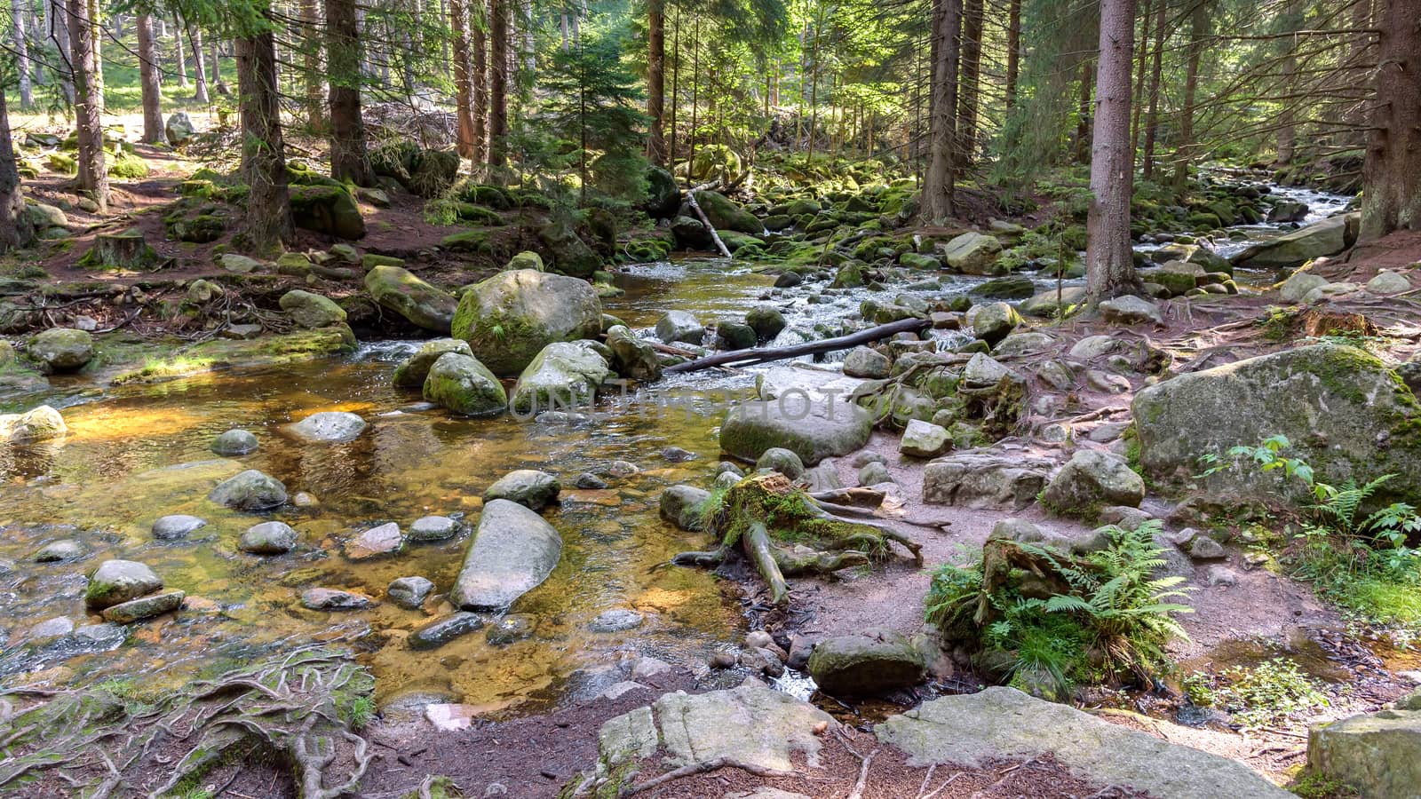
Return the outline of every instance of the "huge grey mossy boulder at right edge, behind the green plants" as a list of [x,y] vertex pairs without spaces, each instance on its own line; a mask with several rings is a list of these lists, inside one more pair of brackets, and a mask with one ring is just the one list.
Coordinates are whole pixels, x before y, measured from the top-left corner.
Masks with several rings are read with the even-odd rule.
[[[1421,496],[1421,405],[1395,371],[1354,347],[1312,344],[1181,374],[1134,400],[1140,463],[1161,482],[1199,482],[1199,458],[1283,435],[1289,456],[1320,481],[1341,485],[1394,475],[1381,493]],[[1300,490],[1282,469],[1248,462],[1215,472],[1201,488],[1262,496]]]

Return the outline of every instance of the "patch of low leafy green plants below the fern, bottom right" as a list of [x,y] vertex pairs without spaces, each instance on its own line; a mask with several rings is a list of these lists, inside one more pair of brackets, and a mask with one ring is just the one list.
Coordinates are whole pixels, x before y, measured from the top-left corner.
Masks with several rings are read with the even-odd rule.
[[1216,677],[1195,672],[1184,680],[1184,688],[1195,705],[1225,711],[1243,729],[1269,726],[1330,704],[1322,685],[1282,657],[1253,667],[1235,665]]

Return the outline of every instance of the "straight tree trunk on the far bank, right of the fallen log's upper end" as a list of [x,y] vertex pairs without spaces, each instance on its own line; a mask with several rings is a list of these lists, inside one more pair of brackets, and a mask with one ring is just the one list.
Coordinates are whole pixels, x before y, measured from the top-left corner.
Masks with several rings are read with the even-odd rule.
[[931,161],[922,186],[922,216],[928,222],[952,218],[952,175],[956,151],[958,27],[962,0],[932,3],[932,108],[928,136]]

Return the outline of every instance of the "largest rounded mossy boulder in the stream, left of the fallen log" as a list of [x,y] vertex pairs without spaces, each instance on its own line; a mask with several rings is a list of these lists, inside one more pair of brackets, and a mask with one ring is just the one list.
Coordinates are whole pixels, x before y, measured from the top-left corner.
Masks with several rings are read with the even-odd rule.
[[585,280],[531,269],[500,272],[463,293],[452,328],[493,374],[510,377],[549,344],[597,337],[603,303]]

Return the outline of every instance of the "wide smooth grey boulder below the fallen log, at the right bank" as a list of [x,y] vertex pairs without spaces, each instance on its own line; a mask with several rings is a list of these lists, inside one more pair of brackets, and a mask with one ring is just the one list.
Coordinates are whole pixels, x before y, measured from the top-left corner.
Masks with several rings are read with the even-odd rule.
[[787,395],[736,405],[720,425],[720,449],[743,461],[757,461],[782,446],[806,465],[848,455],[868,444],[872,415],[847,401],[806,401]]

